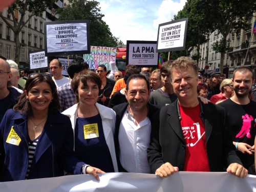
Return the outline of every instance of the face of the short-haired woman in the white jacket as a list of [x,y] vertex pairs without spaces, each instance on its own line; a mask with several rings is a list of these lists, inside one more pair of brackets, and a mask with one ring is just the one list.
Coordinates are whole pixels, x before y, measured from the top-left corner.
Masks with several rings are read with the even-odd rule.
[[99,87],[98,85],[91,81],[86,81],[87,85],[85,86],[81,81],[78,86],[78,97],[79,97],[79,105],[92,106],[98,100],[99,95]]

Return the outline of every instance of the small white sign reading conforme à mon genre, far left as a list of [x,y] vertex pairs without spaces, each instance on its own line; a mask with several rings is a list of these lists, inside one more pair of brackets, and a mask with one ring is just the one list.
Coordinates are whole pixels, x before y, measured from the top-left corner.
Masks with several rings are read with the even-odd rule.
[[44,50],[29,51],[29,71],[49,69]]

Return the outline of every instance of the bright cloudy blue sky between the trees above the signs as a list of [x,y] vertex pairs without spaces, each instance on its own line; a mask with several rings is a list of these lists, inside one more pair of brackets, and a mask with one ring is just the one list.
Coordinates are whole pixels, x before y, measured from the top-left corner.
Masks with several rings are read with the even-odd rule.
[[103,0],[103,20],[112,34],[126,40],[157,40],[158,25],[169,22],[186,0]]

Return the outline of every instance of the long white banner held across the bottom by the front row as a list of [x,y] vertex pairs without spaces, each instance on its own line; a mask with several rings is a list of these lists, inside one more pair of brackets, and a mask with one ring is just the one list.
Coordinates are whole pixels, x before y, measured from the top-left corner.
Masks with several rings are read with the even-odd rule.
[[256,191],[256,177],[245,179],[228,173],[178,172],[160,179],[151,174],[108,173],[99,174],[100,181],[91,175],[74,175],[26,181],[0,183],[4,192],[248,192]]

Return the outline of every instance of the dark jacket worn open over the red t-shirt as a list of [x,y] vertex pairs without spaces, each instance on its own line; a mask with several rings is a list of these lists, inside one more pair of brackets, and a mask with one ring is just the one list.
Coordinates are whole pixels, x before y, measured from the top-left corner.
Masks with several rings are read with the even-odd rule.
[[[242,164],[234,151],[236,148],[232,143],[225,109],[212,103],[199,102],[211,172],[223,172],[224,167],[231,163]],[[155,113],[152,122],[151,142],[147,149],[152,174],[166,162],[183,170],[185,148],[176,100]]]

